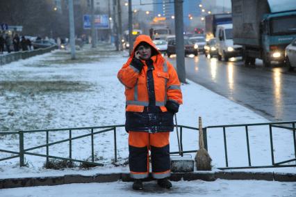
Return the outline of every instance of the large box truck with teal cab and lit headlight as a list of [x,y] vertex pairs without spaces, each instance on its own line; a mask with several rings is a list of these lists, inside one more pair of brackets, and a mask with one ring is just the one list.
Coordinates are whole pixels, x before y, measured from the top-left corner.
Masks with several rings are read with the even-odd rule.
[[265,67],[285,61],[285,48],[296,38],[295,0],[231,0],[233,42],[242,45],[245,65],[256,58]]

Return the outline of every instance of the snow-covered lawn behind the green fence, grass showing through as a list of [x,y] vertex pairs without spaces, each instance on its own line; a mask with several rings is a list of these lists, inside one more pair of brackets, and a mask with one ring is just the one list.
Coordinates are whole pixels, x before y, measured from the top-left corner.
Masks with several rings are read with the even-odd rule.
[[[1,66],[0,132],[124,124],[124,87],[117,80],[117,71],[122,67],[127,57],[125,52],[108,52],[108,49],[111,47],[107,47],[104,51],[84,49],[77,52],[79,58],[75,61],[69,60],[69,52],[56,50],[49,54]],[[204,127],[208,125],[268,123],[268,120],[253,111],[192,81],[188,82],[189,84],[181,86],[184,104],[177,114],[179,125],[198,127],[199,116],[203,118]],[[89,133],[89,130],[73,131],[72,137]],[[49,142],[67,139],[68,136],[68,132],[50,132]],[[170,138],[171,151],[177,151],[176,132],[172,132]],[[276,162],[295,158],[293,134],[290,131],[274,129],[273,138]],[[42,145],[45,143],[45,133],[25,134],[24,139],[25,148]],[[247,166],[245,141],[244,127],[227,129],[229,166]],[[270,165],[268,127],[250,127],[249,142],[252,165]],[[128,166],[124,165],[128,157],[127,134],[124,128],[117,129],[117,164],[120,166],[115,167],[111,164],[114,158],[113,132],[95,136],[94,143],[96,161],[105,164],[104,167],[89,170],[67,168],[55,171],[43,168],[44,158],[26,155],[28,168],[19,168],[18,159],[0,161],[0,178],[52,176],[69,173],[88,175],[129,171]],[[49,148],[49,154],[68,157],[68,145],[69,143],[54,145]],[[75,140],[73,145],[72,157],[75,159],[90,157],[90,137]],[[183,129],[183,150],[196,150],[197,148],[197,132]],[[18,137],[0,136],[0,149],[18,151]],[[214,170],[217,170],[217,167],[225,166],[222,129],[208,131],[208,151],[213,159]],[[32,152],[44,154],[45,148]],[[195,156],[195,154],[191,155],[192,158]],[[1,158],[9,156],[10,154],[0,152]],[[252,171],[296,173],[296,168],[268,168]],[[221,180],[221,182],[223,181]],[[117,182],[106,184],[106,187],[107,185],[126,187],[126,184]],[[182,183],[176,184],[182,185]],[[63,189],[63,186],[59,188]],[[211,194],[208,195],[211,196]]]

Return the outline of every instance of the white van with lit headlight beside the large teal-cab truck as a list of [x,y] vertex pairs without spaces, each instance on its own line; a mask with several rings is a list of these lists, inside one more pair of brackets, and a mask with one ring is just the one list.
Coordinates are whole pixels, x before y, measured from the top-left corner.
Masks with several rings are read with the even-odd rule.
[[233,45],[232,24],[217,25],[215,37],[218,60],[224,58],[224,61],[228,61],[229,58],[242,56],[242,46]]

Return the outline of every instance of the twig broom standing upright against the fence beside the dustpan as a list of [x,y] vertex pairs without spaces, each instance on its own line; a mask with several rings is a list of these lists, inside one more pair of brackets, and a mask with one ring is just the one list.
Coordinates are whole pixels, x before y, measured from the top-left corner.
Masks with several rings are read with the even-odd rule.
[[211,157],[208,151],[204,148],[204,134],[202,131],[202,117],[199,117],[199,150],[195,155],[195,162],[197,164],[197,171],[211,171]]

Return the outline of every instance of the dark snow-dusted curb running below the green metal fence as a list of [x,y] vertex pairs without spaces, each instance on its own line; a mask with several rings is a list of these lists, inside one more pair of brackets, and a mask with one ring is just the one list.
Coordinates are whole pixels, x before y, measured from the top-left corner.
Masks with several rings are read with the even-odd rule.
[[[293,173],[249,173],[249,172],[193,172],[193,173],[172,173],[170,180],[205,180],[215,181],[224,180],[268,180],[280,182],[296,182],[296,174]],[[91,182],[131,182],[129,173],[110,173],[95,175],[63,175],[56,177],[42,178],[8,178],[0,179],[0,189],[15,187],[34,187],[34,186],[51,186],[58,184],[71,183],[91,183]],[[153,180],[151,175],[145,181]]]

